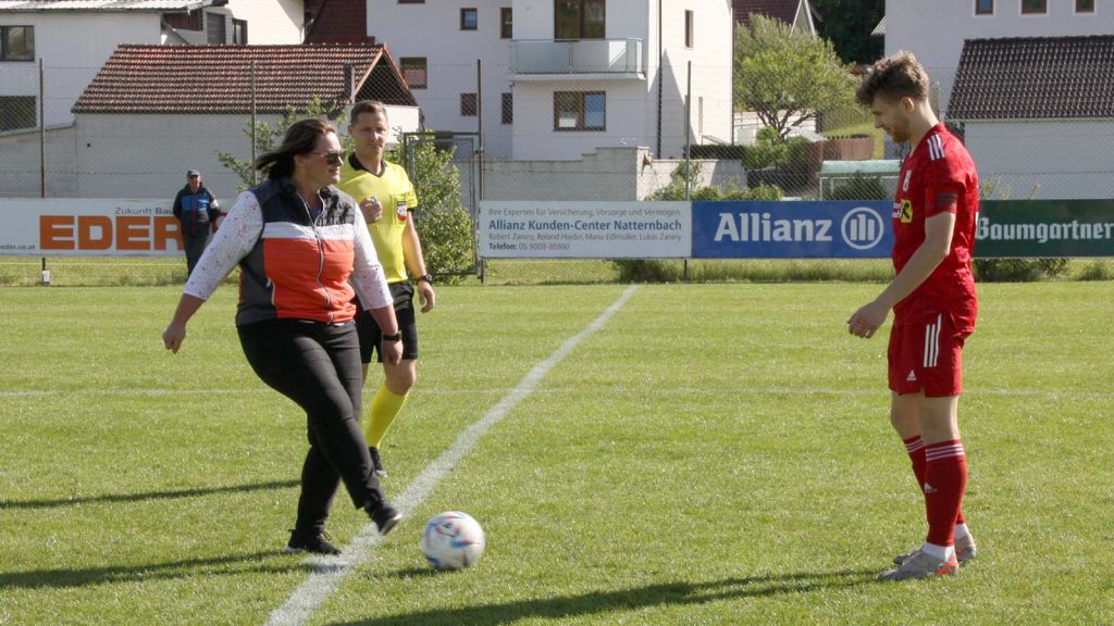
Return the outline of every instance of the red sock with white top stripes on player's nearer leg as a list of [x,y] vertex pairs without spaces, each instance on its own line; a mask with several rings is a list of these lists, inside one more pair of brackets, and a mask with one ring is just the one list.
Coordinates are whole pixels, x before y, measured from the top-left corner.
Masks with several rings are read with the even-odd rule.
[[937,546],[955,544],[956,520],[967,489],[967,454],[958,439],[925,447],[925,508],[928,538]]

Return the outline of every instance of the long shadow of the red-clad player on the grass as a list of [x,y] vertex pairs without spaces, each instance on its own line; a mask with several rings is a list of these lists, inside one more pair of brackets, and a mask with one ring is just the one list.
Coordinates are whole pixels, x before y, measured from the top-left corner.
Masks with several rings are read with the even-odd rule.
[[[398,576],[413,576],[405,570]],[[878,570],[843,570],[818,574],[786,574],[726,578],[709,583],[663,583],[633,589],[596,591],[555,598],[531,598],[505,604],[421,610],[404,615],[377,617],[358,622],[333,623],[332,626],[387,626],[421,624],[422,626],[461,624],[499,625],[520,619],[557,619],[602,615],[613,612],[636,612],[655,606],[691,606],[720,600],[800,594],[821,589],[839,589],[878,581]]]

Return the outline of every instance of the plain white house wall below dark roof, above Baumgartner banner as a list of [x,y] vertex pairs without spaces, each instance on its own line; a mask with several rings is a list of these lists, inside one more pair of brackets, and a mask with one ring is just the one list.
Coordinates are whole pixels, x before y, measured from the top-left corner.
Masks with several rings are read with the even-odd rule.
[[1110,198],[1112,136],[1111,120],[978,120],[965,134],[984,188],[1008,194],[996,199]]

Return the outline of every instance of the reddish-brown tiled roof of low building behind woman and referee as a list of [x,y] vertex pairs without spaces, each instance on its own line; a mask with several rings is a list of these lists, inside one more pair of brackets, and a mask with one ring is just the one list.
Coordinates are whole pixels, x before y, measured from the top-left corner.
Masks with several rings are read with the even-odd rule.
[[[105,61],[74,113],[251,113],[252,61],[256,113],[304,108],[313,97],[343,106],[375,98],[417,106],[385,46],[138,46],[121,45]],[[351,65],[351,76],[345,69]]]

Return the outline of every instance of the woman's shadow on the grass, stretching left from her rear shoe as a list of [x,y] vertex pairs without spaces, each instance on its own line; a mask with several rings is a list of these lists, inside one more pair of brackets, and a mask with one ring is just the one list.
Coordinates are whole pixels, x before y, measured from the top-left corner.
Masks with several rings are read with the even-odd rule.
[[170,563],[110,565],[84,569],[32,569],[29,571],[0,571],[0,589],[63,589],[114,583],[167,580],[197,576],[240,575],[245,573],[284,574],[301,570],[299,561],[282,565],[267,561],[277,551],[251,552],[227,557],[186,559]]

